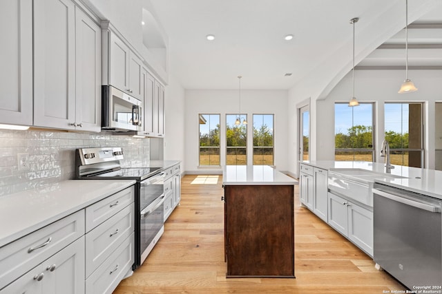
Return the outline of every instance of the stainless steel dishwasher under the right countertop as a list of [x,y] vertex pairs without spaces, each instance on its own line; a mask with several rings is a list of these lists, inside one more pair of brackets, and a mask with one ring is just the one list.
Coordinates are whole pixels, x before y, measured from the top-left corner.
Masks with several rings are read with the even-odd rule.
[[412,291],[441,291],[442,200],[378,183],[373,196],[376,264]]

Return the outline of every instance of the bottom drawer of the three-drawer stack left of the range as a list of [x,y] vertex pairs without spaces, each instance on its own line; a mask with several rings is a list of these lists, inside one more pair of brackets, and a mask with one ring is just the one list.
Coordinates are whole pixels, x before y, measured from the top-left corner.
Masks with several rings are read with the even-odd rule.
[[134,258],[134,233],[111,253],[101,266],[86,280],[86,294],[112,293],[124,275],[131,269]]

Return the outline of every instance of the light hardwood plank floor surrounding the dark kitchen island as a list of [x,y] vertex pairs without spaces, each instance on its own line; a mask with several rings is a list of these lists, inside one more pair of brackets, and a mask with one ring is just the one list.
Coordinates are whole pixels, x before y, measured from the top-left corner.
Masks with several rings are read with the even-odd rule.
[[[193,182],[195,179],[200,184]],[[209,184],[201,184],[203,182]],[[119,284],[115,294],[380,294],[392,290],[405,290],[387,273],[376,271],[373,260],[363,251],[308,209],[300,207],[297,185],[295,187],[296,279],[226,279],[221,184],[221,176],[182,178],[181,205],[167,220],[164,235],[140,269]]]

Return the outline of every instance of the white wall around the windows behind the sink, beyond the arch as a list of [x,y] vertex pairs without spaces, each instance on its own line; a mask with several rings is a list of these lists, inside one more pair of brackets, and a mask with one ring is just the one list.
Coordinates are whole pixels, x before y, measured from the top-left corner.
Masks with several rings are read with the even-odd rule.
[[[410,70],[417,92],[398,94],[405,78],[403,70],[356,70],[355,89],[358,101],[375,102],[375,147],[380,149],[384,138],[384,103],[390,101],[425,102],[425,168],[434,169],[436,144],[435,103],[442,101],[441,70]],[[352,96],[352,75],[347,74],[323,101],[316,101],[316,160],[334,160],[334,103],[347,102]],[[382,161],[376,151],[376,161]]]

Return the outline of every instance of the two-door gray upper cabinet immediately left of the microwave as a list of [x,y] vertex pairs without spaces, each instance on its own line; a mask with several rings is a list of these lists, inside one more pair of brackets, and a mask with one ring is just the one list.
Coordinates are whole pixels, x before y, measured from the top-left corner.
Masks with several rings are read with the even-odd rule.
[[35,126],[99,132],[100,39],[72,1],[34,1]]

